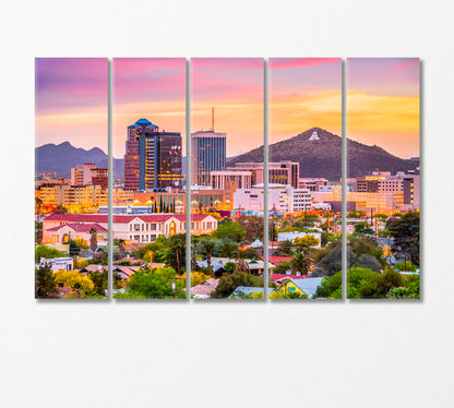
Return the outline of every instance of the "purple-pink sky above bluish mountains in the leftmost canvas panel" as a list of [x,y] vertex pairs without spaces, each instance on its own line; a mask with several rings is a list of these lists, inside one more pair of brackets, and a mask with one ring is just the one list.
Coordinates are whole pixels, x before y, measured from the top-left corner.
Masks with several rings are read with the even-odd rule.
[[107,58],[37,58],[35,68],[35,146],[107,153]]

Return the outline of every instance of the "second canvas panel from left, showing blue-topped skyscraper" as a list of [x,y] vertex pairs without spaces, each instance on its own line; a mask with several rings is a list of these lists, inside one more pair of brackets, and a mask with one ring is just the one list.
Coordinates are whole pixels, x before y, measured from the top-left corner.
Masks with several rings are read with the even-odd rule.
[[115,58],[116,299],[186,299],[186,59]]

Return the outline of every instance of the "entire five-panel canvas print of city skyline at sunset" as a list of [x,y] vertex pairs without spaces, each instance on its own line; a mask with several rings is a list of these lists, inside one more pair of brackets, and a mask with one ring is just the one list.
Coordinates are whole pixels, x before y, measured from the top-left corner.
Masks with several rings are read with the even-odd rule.
[[110,72],[35,59],[35,298],[419,299],[419,59]]

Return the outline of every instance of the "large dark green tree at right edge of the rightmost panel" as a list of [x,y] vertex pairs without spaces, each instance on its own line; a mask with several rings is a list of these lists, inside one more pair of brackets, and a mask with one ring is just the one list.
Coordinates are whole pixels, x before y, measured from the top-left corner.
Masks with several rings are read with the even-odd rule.
[[394,238],[393,252],[419,265],[419,213],[409,212],[401,218],[390,219],[386,229]]

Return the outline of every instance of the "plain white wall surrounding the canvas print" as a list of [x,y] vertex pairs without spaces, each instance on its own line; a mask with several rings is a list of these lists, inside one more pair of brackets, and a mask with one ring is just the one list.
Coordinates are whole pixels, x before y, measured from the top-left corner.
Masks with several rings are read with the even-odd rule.
[[[3,2],[0,406],[453,407],[451,1]],[[36,302],[35,57],[420,57],[423,301]]]

